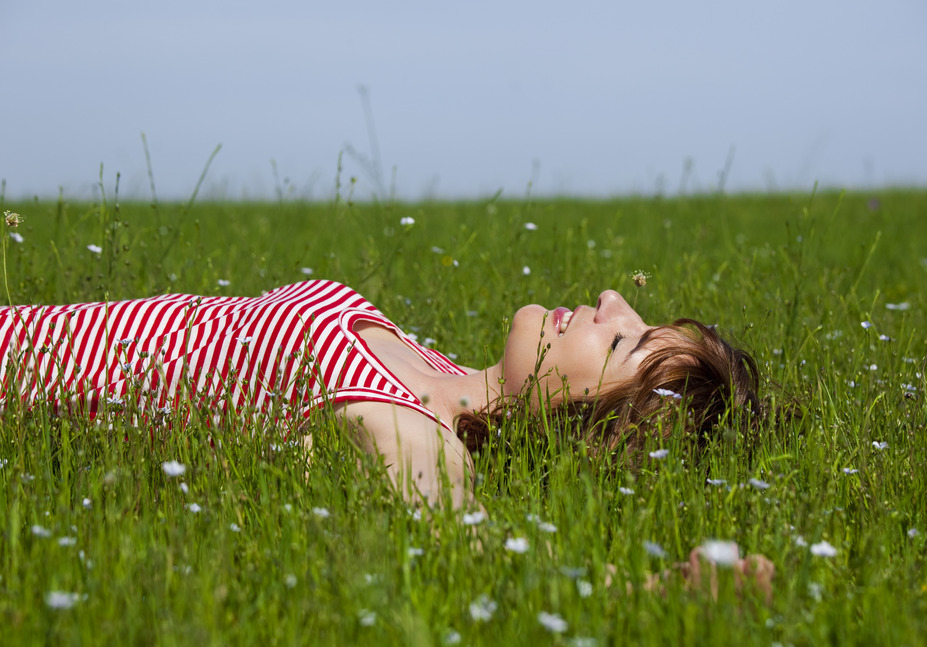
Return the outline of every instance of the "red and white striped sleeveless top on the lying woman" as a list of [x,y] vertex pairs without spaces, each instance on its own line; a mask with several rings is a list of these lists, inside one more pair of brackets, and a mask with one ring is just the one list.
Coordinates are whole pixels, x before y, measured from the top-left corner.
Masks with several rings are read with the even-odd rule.
[[[0,308],[6,402],[18,393],[91,416],[185,405],[307,415],[325,402],[376,401],[438,420],[364,343],[357,321],[392,330],[438,371],[464,375],[351,288],[306,281],[258,298],[170,294],[113,303]],[[276,414],[275,414],[276,415]],[[287,414],[289,415],[289,414]]]

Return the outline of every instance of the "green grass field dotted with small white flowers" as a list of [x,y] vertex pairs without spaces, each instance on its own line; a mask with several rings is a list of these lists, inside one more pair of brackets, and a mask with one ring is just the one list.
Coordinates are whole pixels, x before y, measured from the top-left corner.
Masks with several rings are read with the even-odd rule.
[[[3,240],[12,303],[258,295],[311,272],[483,366],[519,306],[613,287],[648,322],[718,324],[764,394],[804,412],[752,453],[721,431],[639,469],[515,416],[476,459],[488,519],[468,525],[362,477],[324,412],[307,474],[300,447],[243,421],[215,443],[195,422],[152,440],[9,407],[4,645],[927,641],[923,192],[0,210],[22,216]],[[770,605],[723,569],[717,599],[676,578],[642,590],[711,539],[775,563]],[[633,592],[604,585],[607,564]]]

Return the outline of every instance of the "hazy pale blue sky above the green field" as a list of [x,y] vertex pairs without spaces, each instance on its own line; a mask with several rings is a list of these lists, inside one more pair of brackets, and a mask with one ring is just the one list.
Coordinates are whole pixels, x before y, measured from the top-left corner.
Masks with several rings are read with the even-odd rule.
[[[923,0],[5,0],[8,199],[927,185]],[[143,140],[144,134],[144,140]],[[340,159],[340,171],[339,171]]]

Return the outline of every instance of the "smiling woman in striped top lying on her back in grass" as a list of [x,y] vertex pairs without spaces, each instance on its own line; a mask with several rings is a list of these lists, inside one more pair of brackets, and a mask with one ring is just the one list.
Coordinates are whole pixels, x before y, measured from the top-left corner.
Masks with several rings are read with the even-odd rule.
[[91,416],[254,412],[295,429],[330,405],[405,497],[454,505],[470,493],[468,447],[512,399],[562,405],[608,451],[632,451],[677,419],[702,439],[731,407],[758,409],[748,355],[691,320],[648,326],[614,291],[595,307],[521,308],[502,358],[482,370],[423,347],[331,281],[258,298],[2,308],[0,361],[6,406],[18,393],[27,407]]

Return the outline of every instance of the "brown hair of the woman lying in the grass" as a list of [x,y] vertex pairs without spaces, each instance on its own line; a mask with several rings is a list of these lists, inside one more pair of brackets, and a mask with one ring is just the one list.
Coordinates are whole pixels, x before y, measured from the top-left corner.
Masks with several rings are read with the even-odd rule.
[[[631,354],[651,341],[654,348],[632,380],[563,404],[568,416],[578,418],[579,439],[591,453],[624,448],[633,456],[648,438],[667,437],[678,430],[677,423],[701,447],[728,413],[732,424],[734,418],[756,424],[759,372],[747,352],[694,319],[677,319],[649,330]],[[497,401],[492,409],[468,412],[458,419],[457,434],[469,450],[478,449],[490,429],[500,426],[504,409],[504,403]]]

